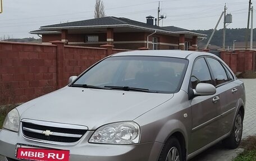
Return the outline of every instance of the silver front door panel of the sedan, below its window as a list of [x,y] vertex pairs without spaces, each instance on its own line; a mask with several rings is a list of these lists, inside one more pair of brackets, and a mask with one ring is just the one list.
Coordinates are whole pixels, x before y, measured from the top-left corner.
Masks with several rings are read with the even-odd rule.
[[191,140],[188,153],[202,148],[204,145],[218,138],[218,111],[220,102],[213,103],[212,99],[218,96],[216,93],[211,96],[196,96],[190,100],[192,109]]

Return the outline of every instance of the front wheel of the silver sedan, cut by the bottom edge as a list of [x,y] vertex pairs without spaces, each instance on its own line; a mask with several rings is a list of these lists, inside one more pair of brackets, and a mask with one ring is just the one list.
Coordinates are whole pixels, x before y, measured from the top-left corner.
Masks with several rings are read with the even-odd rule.
[[158,161],[185,161],[184,156],[179,140],[172,136],[166,144],[164,144]]

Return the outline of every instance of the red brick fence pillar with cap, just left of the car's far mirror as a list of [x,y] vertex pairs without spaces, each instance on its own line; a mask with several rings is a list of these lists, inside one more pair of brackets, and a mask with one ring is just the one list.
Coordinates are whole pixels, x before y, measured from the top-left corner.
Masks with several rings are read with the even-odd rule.
[[[61,41],[54,41],[51,42],[53,45],[57,46],[56,50],[56,66],[57,66],[57,89],[63,88],[66,84],[64,84],[64,72],[65,72],[65,66],[64,66],[64,45],[65,42]],[[66,81],[65,81],[66,82]]]

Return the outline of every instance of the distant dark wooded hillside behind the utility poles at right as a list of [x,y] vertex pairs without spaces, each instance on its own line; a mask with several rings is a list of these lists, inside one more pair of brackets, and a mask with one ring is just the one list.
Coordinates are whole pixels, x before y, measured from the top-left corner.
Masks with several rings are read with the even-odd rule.
[[[204,47],[205,44],[207,44],[208,39],[210,38],[213,29],[210,30],[193,30],[196,33],[202,33],[207,34],[207,39],[203,40],[202,42],[199,42],[199,48]],[[245,31],[246,29],[226,29],[226,46],[233,46],[233,41],[236,40],[236,43],[239,42],[245,42]],[[223,29],[216,30],[213,38],[210,42],[211,45],[216,45],[218,47],[222,47],[222,35],[223,35]],[[250,31],[249,31],[249,37],[248,40],[250,40]],[[256,29],[253,29],[253,40],[256,40]]]

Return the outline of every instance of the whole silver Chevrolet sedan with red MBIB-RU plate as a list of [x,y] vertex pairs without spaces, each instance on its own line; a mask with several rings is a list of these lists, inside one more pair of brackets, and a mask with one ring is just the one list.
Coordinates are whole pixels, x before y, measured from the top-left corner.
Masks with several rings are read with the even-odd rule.
[[8,113],[1,161],[184,161],[240,144],[244,84],[213,54],[117,53],[69,81]]

